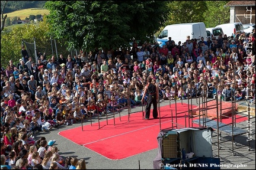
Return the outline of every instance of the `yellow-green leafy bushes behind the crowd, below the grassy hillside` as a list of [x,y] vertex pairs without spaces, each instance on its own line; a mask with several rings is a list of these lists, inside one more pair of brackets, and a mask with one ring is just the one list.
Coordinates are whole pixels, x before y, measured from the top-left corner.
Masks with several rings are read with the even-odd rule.
[[[27,42],[34,42],[36,39],[37,50],[44,49],[46,43],[50,40],[49,27],[46,22],[40,22],[39,25],[25,24],[23,27],[14,27],[11,32],[1,33],[1,63],[7,66],[8,61],[12,59],[15,64],[21,58],[21,42],[24,39]],[[43,50],[42,50],[43,51]]]

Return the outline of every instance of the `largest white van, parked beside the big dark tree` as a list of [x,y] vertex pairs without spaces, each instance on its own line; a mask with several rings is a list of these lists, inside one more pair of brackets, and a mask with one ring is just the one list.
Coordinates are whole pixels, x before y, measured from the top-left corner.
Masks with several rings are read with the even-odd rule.
[[169,40],[169,37],[171,37],[171,40],[175,44],[178,44],[178,41],[181,41],[182,44],[187,40],[188,35],[190,36],[190,40],[196,38],[197,41],[200,41],[201,37],[207,37],[205,24],[203,22],[195,22],[167,25],[162,30],[157,41],[159,46],[162,47]]

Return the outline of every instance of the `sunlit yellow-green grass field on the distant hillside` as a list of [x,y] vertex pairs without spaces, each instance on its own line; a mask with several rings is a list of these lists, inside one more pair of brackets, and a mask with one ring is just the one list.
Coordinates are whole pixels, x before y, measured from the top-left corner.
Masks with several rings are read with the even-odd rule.
[[10,17],[11,20],[14,17],[20,17],[20,19],[23,20],[26,17],[28,18],[30,15],[38,15],[38,14],[47,15],[49,13],[50,12],[47,9],[28,8],[28,9],[22,9],[22,10],[19,10],[19,11],[14,11],[14,12],[7,13],[7,17]]

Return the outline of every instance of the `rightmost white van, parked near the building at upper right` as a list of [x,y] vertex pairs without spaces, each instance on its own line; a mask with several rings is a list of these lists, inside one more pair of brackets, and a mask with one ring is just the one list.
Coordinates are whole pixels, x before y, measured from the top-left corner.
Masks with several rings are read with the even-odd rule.
[[244,32],[244,27],[241,22],[220,24],[220,25],[217,25],[215,28],[217,27],[222,28],[224,34],[226,34],[228,38],[230,38],[231,35],[237,35]]

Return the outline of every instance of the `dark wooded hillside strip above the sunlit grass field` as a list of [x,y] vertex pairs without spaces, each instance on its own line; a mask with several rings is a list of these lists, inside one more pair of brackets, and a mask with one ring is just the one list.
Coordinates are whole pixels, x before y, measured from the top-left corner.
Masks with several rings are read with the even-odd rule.
[[[44,4],[47,1],[7,1],[7,5],[4,9],[4,14],[18,11],[21,9],[28,9],[28,8],[44,8]],[[4,1],[1,1],[1,6]]]

